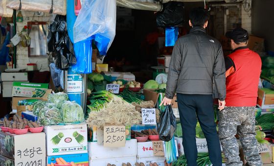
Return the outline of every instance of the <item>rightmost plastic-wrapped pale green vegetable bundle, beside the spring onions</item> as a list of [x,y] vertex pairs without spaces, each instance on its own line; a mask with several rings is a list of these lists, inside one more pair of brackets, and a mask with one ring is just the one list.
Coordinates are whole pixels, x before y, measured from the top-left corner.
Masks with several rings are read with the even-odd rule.
[[75,101],[65,101],[60,112],[64,123],[84,121],[84,111]]

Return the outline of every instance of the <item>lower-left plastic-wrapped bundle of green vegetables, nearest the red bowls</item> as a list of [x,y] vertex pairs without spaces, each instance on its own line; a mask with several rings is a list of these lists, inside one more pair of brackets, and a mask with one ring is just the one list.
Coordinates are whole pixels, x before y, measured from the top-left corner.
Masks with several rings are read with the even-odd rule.
[[56,107],[48,108],[45,106],[38,114],[38,122],[42,125],[57,125],[58,123],[62,123],[60,110]]

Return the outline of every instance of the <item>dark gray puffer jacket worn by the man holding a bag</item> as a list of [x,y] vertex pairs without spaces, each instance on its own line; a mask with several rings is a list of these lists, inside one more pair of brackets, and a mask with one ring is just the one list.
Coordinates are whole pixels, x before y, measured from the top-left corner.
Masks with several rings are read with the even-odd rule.
[[226,69],[221,44],[206,35],[203,27],[193,27],[180,37],[172,51],[165,96],[213,94],[213,78],[220,100],[226,98]]

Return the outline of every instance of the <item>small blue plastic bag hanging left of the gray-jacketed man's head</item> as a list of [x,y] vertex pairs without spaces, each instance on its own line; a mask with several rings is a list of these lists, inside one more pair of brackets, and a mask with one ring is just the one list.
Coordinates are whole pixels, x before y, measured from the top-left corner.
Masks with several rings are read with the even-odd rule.
[[175,26],[165,28],[165,47],[174,46],[178,39],[179,28]]

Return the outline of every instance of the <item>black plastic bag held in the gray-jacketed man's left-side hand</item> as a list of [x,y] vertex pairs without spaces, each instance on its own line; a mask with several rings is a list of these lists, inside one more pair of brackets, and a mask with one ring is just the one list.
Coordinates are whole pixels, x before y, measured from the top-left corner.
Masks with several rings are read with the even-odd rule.
[[165,107],[165,111],[160,116],[159,122],[159,138],[162,141],[168,142],[172,139],[176,130],[176,118],[173,114],[171,105]]

